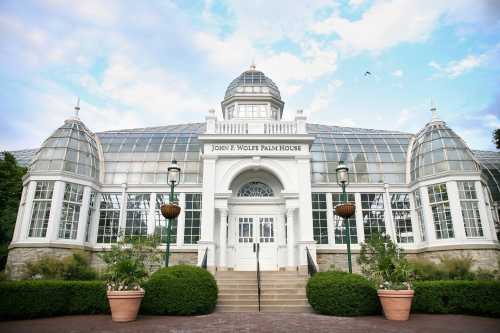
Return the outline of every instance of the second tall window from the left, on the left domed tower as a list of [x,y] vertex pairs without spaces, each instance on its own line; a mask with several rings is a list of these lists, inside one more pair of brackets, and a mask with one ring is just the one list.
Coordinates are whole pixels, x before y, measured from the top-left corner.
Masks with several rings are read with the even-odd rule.
[[63,209],[59,222],[59,238],[76,239],[80,208],[83,200],[83,186],[66,183],[64,187]]

